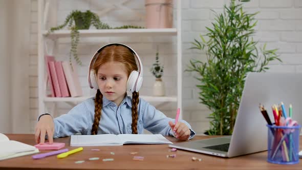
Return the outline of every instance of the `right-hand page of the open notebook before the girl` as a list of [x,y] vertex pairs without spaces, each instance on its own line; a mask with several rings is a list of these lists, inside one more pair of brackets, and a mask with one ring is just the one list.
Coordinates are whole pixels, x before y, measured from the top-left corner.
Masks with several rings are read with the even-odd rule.
[[117,135],[124,144],[135,143],[135,144],[171,144],[161,134],[120,134]]

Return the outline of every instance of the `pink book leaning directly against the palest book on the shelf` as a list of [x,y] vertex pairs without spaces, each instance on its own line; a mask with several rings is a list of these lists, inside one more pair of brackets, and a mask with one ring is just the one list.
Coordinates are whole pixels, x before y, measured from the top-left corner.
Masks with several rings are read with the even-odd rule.
[[62,97],[70,97],[61,61],[55,61],[55,67]]

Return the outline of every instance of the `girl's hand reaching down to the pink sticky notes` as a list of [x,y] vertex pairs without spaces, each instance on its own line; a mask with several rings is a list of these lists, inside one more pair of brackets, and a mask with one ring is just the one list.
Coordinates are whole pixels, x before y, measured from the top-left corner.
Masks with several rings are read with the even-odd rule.
[[54,122],[50,115],[43,115],[40,117],[35,128],[36,143],[44,143],[45,135],[48,135],[49,143],[53,143]]

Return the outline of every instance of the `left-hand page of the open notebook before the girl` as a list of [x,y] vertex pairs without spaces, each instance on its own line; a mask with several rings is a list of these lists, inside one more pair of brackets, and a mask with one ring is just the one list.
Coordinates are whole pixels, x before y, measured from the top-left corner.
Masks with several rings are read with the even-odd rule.
[[114,134],[103,135],[72,135],[70,146],[110,146],[123,143]]

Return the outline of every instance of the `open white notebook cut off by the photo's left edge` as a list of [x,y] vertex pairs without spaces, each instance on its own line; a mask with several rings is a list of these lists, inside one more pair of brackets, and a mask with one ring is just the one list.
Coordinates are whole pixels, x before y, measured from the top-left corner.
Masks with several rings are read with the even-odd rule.
[[0,133],[0,160],[30,155],[38,152],[39,150],[35,146],[9,140],[6,135]]

